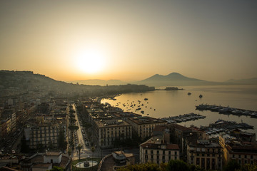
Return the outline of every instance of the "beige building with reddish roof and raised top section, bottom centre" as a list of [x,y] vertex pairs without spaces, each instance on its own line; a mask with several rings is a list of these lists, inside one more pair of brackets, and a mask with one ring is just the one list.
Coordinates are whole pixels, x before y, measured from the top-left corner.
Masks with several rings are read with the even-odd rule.
[[160,164],[169,160],[179,160],[179,147],[163,142],[161,136],[153,137],[140,145],[140,162]]

